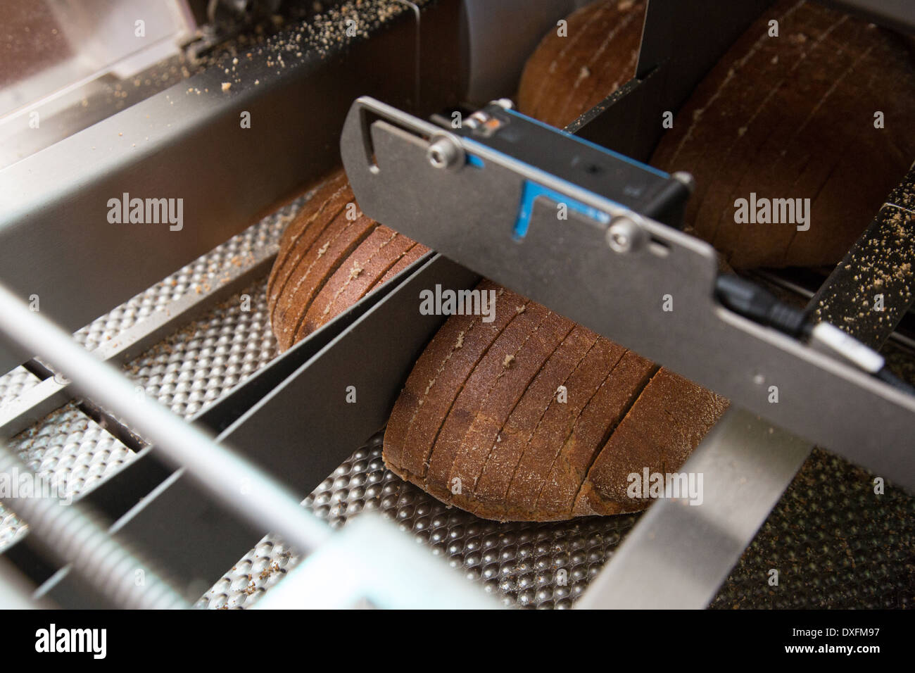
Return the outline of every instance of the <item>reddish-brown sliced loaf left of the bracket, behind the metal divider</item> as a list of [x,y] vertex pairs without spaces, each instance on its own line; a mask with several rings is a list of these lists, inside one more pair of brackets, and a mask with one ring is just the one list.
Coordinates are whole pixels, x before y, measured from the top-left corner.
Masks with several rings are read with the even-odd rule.
[[267,307],[285,351],[428,252],[366,217],[342,170],[302,207],[280,241]]

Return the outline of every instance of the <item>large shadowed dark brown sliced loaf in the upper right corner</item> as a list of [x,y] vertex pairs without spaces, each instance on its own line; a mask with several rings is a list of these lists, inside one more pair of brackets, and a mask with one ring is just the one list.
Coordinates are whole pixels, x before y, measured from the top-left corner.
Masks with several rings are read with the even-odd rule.
[[[777,19],[780,37],[768,36]],[[774,5],[677,114],[651,163],[688,170],[686,222],[736,268],[837,263],[915,158],[898,37],[815,2]],[[874,127],[885,114],[886,128]],[[735,223],[735,201],[809,198],[810,230]]]

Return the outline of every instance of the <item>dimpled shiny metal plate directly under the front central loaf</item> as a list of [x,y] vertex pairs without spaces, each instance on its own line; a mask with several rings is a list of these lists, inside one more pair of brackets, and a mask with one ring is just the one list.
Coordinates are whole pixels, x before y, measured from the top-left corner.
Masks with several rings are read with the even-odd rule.
[[[587,588],[638,516],[587,517],[549,524],[485,521],[447,508],[384,468],[382,434],[357,450],[303,503],[331,526],[366,510],[392,518],[417,542],[507,605],[568,608]],[[250,607],[297,563],[264,537],[199,601],[200,607]],[[468,582],[468,591],[477,589]]]

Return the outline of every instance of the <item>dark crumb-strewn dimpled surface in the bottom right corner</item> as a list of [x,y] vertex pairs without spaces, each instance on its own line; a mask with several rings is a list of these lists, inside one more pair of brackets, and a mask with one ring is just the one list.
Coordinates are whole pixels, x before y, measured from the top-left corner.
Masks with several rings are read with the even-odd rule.
[[711,607],[915,606],[915,498],[875,476],[813,450]]

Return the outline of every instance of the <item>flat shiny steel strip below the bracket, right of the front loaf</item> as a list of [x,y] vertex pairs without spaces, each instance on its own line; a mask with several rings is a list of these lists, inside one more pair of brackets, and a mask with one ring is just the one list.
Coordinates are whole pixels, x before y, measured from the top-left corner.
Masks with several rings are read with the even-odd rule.
[[653,503],[576,608],[704,608],[812,448],[729,409],[679,470],[704,475],[702,504]]

